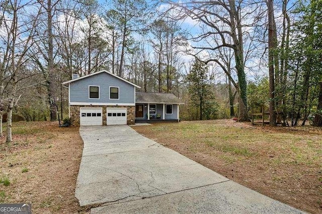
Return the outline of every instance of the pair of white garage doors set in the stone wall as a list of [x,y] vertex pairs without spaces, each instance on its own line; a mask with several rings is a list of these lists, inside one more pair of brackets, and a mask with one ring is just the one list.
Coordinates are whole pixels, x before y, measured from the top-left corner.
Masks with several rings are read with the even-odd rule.
[[[106,108],[107,125],[126,125],[126,108]],[[102,126],[103,108],[80,108],[81,126]]]

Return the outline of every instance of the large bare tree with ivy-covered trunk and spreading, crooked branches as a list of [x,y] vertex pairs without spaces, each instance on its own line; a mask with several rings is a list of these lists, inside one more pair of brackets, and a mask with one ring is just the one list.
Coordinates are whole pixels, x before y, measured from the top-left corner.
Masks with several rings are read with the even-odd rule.
[[[185,19],[187,17],[197,20],[200,25],[207,26],[209,31],[205,34],[192,37],[194,41],[201,41],[211,36],[218,37],[220,45],[209,47],[195,45],[197,54],[204,51],[216,51],[223,47],[231,48],[234,52],[234,61],[238,77],[239,91],[239,121],[248,121],[247,109],[247,82],[245,74],[245,57],[243,41],[243,19],[254,11],[247,12],[245,17],[242,16],[242,9],[245,7],[244,2],[227,1],[189,1],[183,3],[168,2],[172,5],[171,10],[179,11],[176,19]],[[237,5],[236,5],[237,4]],[[229,38],[228,40],[226,38]],[[211,60],[210,60],[211,61]],[[216,60],[213,60],[216,62]]]

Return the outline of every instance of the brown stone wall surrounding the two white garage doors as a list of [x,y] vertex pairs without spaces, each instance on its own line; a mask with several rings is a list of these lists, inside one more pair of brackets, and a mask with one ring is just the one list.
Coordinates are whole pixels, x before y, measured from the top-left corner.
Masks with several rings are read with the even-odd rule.
[[111,106],[111,105],[70,105],[70,118],[72,120],[73,126],[81,125],[80,122],[80,113],[79,108],[102,108],[102,117],[103,117],[103,126],[106,126],[106,108],[126,108],[127,109],[127,125],[134,125],[135,123],[135,106],[125,106],[125,105],[118,105],[118,106]]

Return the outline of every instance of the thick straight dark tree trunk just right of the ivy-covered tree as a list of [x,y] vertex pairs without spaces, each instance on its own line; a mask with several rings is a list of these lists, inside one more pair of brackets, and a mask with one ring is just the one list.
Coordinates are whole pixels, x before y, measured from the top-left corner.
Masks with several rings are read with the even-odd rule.
[[273,0],[268,0],[268,63],[269,63],[269,84],[270,84],[270,125],[276,126],[274,114],[275,109],[275,82],[274,82],[274,8]]

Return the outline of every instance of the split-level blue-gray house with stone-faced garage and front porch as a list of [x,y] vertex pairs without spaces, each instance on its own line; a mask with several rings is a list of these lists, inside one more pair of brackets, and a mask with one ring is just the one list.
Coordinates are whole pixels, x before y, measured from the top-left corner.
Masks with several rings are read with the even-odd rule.
[[139,121],[180,121],[184,104],[171,93],[136,92],[140,86],[102,70],[72,79],[68,86],[69,118],[74,126],[133,125]]

